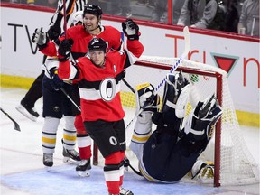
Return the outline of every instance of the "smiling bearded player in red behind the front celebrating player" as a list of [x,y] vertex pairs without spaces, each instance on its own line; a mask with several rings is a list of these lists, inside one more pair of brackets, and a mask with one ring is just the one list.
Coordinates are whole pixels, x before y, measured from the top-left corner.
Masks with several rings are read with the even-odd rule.
[[[121,32],[112,26],[101,25],[102,9],[98,5],[86,5],[82,17],[83,25],[71,27],[67,30],[66,34],[55,42],[49,42],[46,32],[41,32],[40,29],[35,31],[32,40],[37,43],[42,53],[49,56],[56,56],[56,46],[65,39],[66,35],[67,39],[72,39],[74,42],[71,48],[71,56],[74,60],[86,55],[88,42],[93,37],[103,38],[107,42],[107,51],[119,51],[122,49]],[[73,85],[72,98],[80,106],[78,85]],[[81,163],[76,167],[76,171],[79,172],[80,176],[89,176],[88,170],[91,168],[90,157],[92,155],[91,139],[84,128],[80,112],[75,107],[74,115],[76,116],[74,124],[77,129],[77,143],[81,159]]]

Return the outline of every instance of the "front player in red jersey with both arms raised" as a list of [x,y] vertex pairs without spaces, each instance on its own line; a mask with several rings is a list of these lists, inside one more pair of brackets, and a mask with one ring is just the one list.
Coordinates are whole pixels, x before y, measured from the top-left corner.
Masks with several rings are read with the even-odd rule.
[[79,85],[81,116],[88,134],[105,158],[104,174],[109,194],[133,194],[122,189],[125,157],[125,112],[121,105],[120,83],[124,71],[143,53],[139,27],[131,19],[122,23],[127,49],[107,52],[107,42],[94,38],[88,55],[69,61],[72,40],[60,42],[60,79]]

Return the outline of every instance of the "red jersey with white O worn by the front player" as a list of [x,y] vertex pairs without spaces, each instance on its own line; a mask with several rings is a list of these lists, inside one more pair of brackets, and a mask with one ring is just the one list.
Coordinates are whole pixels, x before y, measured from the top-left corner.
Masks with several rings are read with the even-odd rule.
[[105,68],[95,66],[88,57],[60,62],[60,79],[72,79],[78,83],[83,121],[118,121],[125,112],[121,105],[120,83],[122,71],[134,63],[143,53],[141,42],[127,41],[127,50],[107,52]]

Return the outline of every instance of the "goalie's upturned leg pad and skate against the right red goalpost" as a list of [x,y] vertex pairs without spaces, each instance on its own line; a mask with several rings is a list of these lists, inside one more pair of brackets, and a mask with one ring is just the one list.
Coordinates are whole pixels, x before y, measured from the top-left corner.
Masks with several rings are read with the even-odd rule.
[[190,141],[195,142],[203,139],[210,140],[213,129],[222,116],[222,108],[218,105],[215,95],[212,95],[190,113],[188,122],[184,127],[186,135],[190,134]]

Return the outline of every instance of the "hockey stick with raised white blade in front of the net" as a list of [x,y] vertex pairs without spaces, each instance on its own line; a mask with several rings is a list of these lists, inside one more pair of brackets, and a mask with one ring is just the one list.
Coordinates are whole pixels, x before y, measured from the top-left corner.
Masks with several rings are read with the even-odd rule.
[[[173,71],[175,71],[178,66],[181,64],[181,61],[188,55],[188,52],[190,51],[190,32],[189,32],[189,28],[188,26],[185,26],[183,29],[183,35],[184,35],[184,51],[181,54],[181,57],[179,60],[177,60],[175,62],[175,64],[172,66],[171,70],[169,70],[170,73],[172,73]],[[154,89],[154,93],[153,95],[156,95],[158,93],[159,88],[161,88],[163,86],[163,84],[166,81],[166,76],[163,78],[163,80],[157,85],[157,87]],[[125,129],[127,129],[131,124],[133,124],[133,122],[137,119],[137,117],[143,112],[144,108],[147,107],[149,104],[149,102],[145,102],[144,106],[141,107],[138,111],[138,113],[135,115],[135,117],[129,122],[128,125],[126,125]]]

